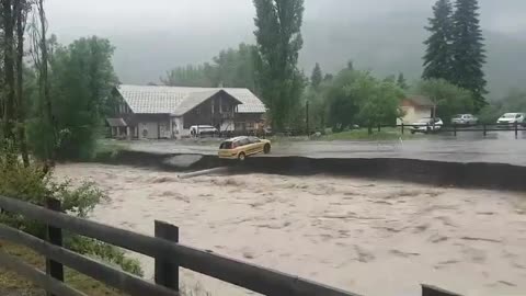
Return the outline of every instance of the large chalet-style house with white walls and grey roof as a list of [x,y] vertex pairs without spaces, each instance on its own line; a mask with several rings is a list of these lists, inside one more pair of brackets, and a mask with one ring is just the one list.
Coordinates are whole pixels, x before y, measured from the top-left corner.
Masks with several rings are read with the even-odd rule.
[[266,111],[248,89],[122,84],[113,95],[118,104],[106,122],[114,137],[123,137],[125,130],[128,138],[182,138],[193,125],[252,130]]

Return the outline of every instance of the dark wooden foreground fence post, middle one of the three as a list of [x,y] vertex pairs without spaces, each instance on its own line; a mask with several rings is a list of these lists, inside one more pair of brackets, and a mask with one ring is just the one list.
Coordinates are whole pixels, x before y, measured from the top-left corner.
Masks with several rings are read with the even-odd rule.
[[[156,238],[179,242],[179,227],[156,220]],[[156,284],[179,292],[179,264],[167,262],[163,258],[156,258]]]

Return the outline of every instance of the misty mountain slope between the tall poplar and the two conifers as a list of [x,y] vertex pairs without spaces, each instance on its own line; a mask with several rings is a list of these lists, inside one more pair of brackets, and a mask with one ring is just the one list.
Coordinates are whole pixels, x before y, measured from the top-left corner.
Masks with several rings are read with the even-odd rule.
[[402,71],[410,78],[420,76],[423,56],[422,26],[425,19],[416,14],[390,14],[381,20],[330,24],[306,22],[301,66],[311,69],[316,61],[324,71],[334,72],[353,60],[358,69],[379,76]]

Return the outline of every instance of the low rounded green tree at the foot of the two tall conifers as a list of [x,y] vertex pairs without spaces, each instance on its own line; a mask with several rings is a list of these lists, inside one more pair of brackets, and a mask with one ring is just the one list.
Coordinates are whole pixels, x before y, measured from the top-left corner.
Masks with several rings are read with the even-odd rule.
[[430,98],[435,105],[435,115],[444,122],[449,122],[455,114],[473,110],[472,93],[444,79],[423,80],[416,92]]

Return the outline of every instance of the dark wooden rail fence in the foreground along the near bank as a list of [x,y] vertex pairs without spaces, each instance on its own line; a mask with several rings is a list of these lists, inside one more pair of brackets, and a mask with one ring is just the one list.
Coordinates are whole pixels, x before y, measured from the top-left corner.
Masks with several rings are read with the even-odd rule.
[[[42,286],[48,295],[79,296],[83,293],[64,283],[64,265],[129,295],[179,295],[179,267],[263,294],[301,296],[357,296],[350,292],[274,270],[203,251],[179,242],[175,226],[156,221],[155,236],[145,236],[60,213],[60,203],[47,200],[46,207],[0,196],[0,208],[46,225],[47,240],[0,224],[0,239],[22,244],[46,258],[46,272],[0,251],[0,265]],[[62,248],[62,230],[99,239],[155,259],[155,283],[123,272]],[[422,286],[423,296],[457,296],[433,286]]]

